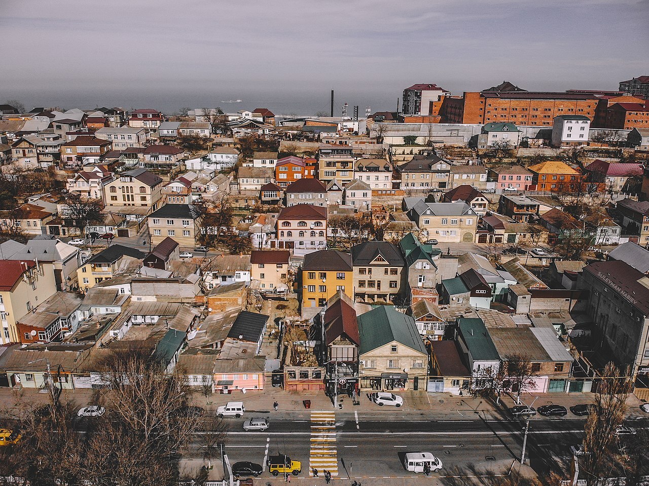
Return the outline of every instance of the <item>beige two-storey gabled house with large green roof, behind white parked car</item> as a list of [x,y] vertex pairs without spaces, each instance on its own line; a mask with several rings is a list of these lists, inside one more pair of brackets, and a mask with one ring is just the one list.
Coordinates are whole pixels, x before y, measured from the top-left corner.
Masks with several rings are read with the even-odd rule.
[[425,389],[430,357],[414,319],[379,306],[357,320],[361,388]]

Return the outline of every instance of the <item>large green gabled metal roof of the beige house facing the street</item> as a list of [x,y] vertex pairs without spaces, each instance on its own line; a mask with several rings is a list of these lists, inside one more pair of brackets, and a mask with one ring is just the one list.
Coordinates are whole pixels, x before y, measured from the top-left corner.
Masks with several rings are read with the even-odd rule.
[[398,312],[392,306],[380,306],[361,314],[358,319],[360,354],[364,354],[393,341],[428,354],[415,321],[409,315]]

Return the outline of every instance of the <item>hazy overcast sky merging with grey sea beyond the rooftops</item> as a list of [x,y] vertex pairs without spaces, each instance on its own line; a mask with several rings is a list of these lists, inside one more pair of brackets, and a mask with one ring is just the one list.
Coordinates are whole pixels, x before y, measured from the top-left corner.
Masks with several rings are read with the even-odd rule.
[[[0,0],[0,103],[276,113],[649,75],[649,0]],[[236,107],[236,108],[235,108]]]

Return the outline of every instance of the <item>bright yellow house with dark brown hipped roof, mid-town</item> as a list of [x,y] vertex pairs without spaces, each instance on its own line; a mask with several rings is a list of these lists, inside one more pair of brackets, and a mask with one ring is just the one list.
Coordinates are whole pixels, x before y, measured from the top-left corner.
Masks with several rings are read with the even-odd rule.
[[352,256],[337,250],[319,250],[304,256],[302,307],[322,307],[343,291],[354,298]]

